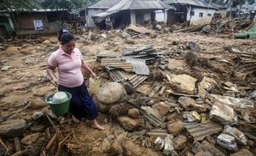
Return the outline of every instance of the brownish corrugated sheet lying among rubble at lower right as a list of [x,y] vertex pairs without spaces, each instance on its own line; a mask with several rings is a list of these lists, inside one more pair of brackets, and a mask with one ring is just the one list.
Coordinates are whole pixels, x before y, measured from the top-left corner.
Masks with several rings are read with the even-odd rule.
[[202,123],[185,123],[187,131],[194,137],[194,140],[203,140],[206,136],[215,134],[222,130],[220,123],[208,120]]

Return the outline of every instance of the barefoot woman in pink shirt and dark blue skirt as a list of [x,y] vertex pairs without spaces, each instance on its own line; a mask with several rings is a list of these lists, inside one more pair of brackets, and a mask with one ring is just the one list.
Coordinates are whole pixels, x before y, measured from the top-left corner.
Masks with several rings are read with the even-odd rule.
[[[82,118],[92,120],[92,127],[104,130],[97,121],[97,107],[83,80],[81,67],[89,71],[92,76],[96,74],[83,62],[83,57],[78,48],[75,48],[75,39],[68,30],[59,30],[61,46],[52,53],[47,62],[47,73],[59,91],[72,94],[69,111],[73,114],[73,121],[79,122]],[[58,68],[59,76],[55,76]]]

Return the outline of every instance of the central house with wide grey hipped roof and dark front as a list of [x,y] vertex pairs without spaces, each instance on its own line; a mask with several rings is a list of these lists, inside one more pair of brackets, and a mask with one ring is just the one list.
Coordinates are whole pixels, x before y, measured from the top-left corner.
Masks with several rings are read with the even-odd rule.
[[113,26],[144,25],[155,20],[155,11],[166,11],[173,7],[160,0],[121,0],[107,11],[92,16],[94,23],[105,27],[105,19],[111,16]]

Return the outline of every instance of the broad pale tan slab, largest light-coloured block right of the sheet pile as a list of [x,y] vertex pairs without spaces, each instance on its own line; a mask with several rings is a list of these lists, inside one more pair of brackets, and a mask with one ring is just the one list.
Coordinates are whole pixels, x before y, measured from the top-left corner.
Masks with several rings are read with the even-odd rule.
[[192,76],[188,75],[167,75],[168,80],[175,85],[177,92],[183,94],[196,94],[196,82],[197,79],[193,78]]

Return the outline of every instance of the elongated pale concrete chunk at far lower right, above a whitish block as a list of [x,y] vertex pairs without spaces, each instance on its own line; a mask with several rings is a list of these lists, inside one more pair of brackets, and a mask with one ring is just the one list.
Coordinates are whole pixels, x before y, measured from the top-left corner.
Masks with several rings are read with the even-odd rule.
[[240,145],[247,145],[247,138],[244,135],[242,131],[239,131],[235,127],[231,127],[229,125],[224,126],[224,131],[225,134],[227,135],[232,135],[235,137],[235,140],[240,144]]

